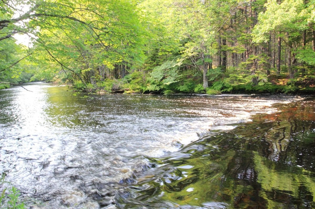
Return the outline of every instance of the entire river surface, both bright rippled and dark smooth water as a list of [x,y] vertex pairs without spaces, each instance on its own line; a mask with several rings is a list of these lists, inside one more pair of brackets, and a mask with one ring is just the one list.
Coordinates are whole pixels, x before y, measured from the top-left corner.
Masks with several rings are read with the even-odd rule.
[[0,172],[30,208],[315,208],[313,99],[26,88],[0,91]]

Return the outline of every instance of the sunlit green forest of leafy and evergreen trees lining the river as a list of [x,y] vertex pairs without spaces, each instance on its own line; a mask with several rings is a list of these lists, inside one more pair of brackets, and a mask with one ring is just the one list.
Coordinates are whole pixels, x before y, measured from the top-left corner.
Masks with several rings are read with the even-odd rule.
[[0,88],[312,94],[314,30],[314,0],[1,0]]

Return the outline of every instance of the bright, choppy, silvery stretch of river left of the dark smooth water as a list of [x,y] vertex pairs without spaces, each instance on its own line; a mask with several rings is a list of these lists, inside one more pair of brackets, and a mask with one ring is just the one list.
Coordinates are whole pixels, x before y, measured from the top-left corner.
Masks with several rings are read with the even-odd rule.
[[[24,198],[43,201],[40,208],[113,207],[119,185],[150,167],[146,157],[178,151],[211,131],[275,112],[274,103],[296,100],[284,95],[83,98],[67,87],[26,88],[33,92],[0,91],[0,172]],[[100,197],[103,203],[95,202]]]

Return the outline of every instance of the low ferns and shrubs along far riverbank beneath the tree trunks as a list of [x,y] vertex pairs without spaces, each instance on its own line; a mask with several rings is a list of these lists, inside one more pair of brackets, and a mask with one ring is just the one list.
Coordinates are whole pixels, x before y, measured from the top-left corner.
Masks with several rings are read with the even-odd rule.
[[[284,94],[301,94],[315,95],[315,81],[312,78],[295,79],[287,78],[288,75],[270,76],[261,78],[257,84],[248,80],[247,76],[223,76],[209,82],[208,88],[203,88],[197,80],[182,79],[178,81],[163,82],[152,80],[143,72],[134,72],[126,75],[123,79],[105,79],[96,82],[96,84],[84,84],[77,81],[73,83],[76,91],[96,92],[99,94],[106,93],[146,93],[146,94],[176,94],[176,93],[207,93],[209,95],[218,95],[221,93],[232,94],[259,94],[259,93],[284,93]],[[167,78],[164,78],[167,79]]]

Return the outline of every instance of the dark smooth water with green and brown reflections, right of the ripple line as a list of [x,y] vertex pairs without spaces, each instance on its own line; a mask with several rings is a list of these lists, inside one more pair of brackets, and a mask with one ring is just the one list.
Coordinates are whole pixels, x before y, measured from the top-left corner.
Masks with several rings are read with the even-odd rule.
[[315,101],[211,133],[117,194],[120,208],[315,208]]

